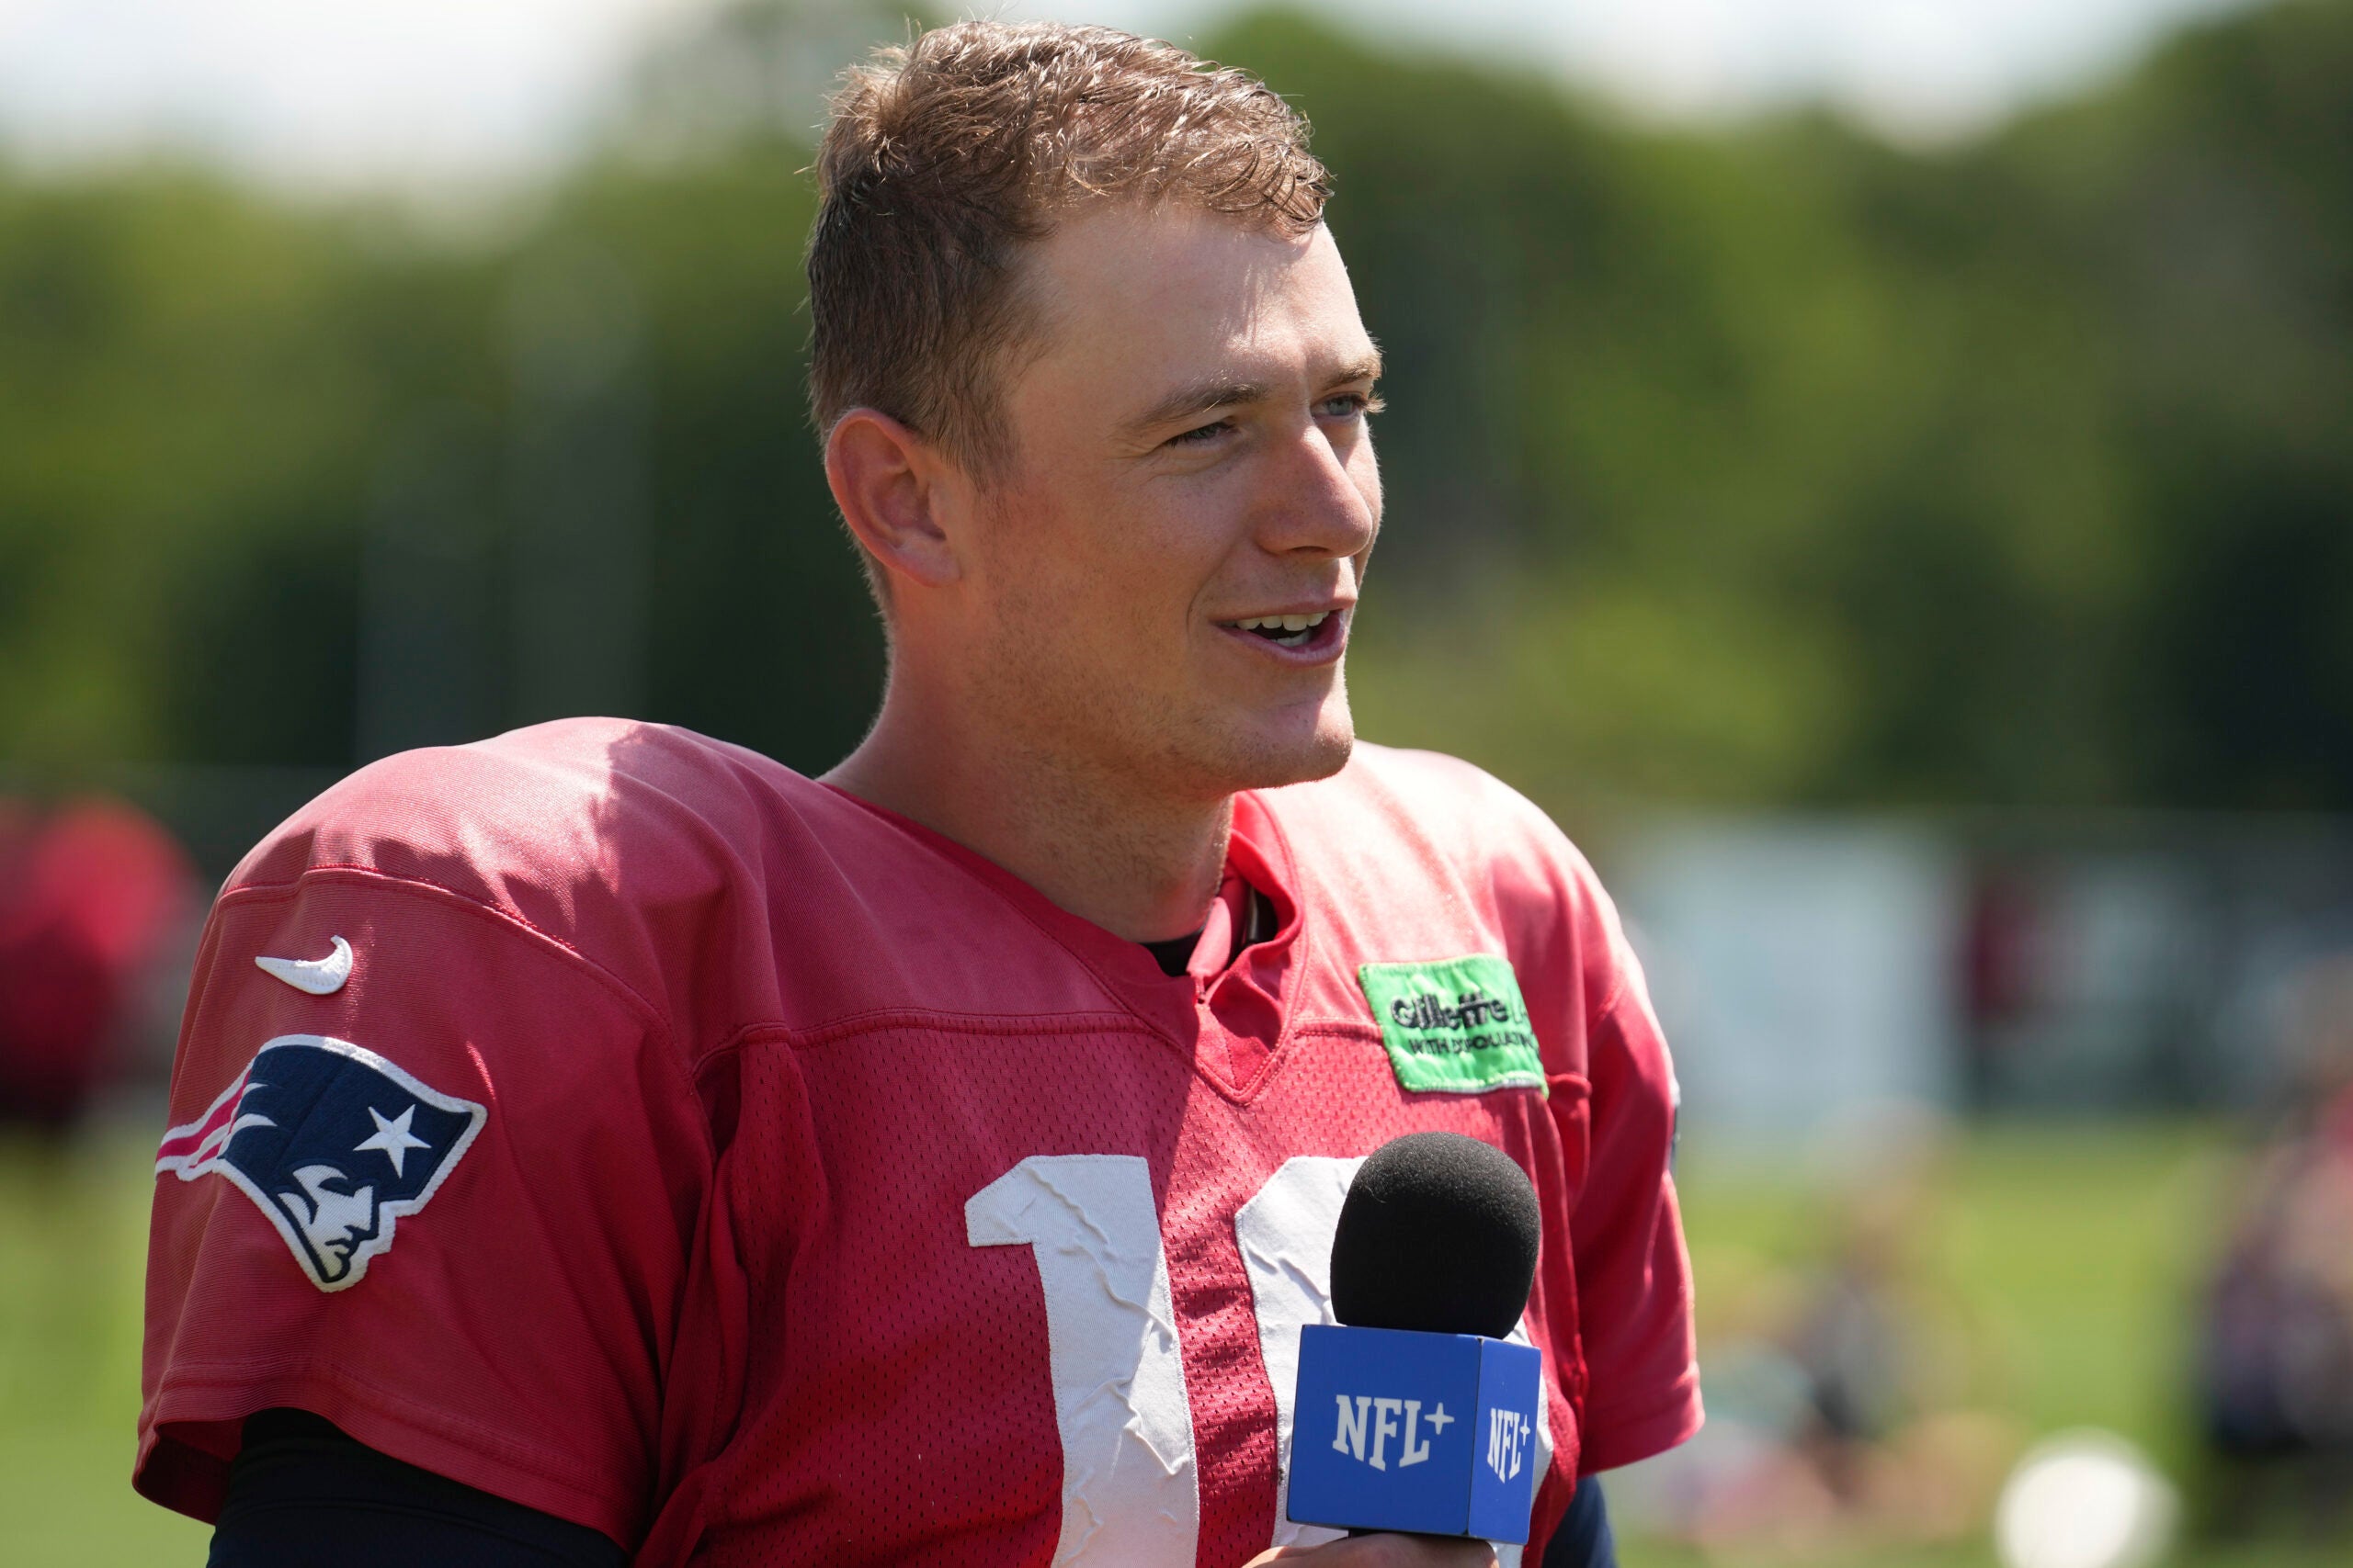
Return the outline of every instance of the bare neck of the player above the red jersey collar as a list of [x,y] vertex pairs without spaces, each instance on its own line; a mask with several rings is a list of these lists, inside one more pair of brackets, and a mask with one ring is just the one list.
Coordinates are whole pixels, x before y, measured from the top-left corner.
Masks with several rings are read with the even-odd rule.
[[1021,736],[979,733],[972,715],[892,679],[873,731],[824,778],[1132,943],[1200,929],[1226,870],[1231,795],[1153,795]]

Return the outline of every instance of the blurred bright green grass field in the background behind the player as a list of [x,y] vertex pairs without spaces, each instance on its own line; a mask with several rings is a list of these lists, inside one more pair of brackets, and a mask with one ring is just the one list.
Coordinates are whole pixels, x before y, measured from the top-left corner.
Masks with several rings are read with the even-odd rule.
[[[200,1563],[205,1528],[132,1495],[148,1128],[66,1152],[0,1145],[0,1561],[26,1568]],[[2202,1126],[2033,1126],[1960,1135],[1939,1161],[1920,1258],[1993,1345],[2024,1432],[2101,1425],[2181,1476],[2186,1302],[2226,1180]],[[1819,1253],[1814,1175],[1687,1150],[1682,1197],[1704,1335],[1713,1300]],[[1626,1568],[1699,1568],[1626,1542]],[[1748,1559],[1713,1559],[1722,1563]],[[1791,1561],[1791,1559],[1755,1559]],[[1819,1556],[1807,1561],[1821,1561]],[[1984,1568],[1962,1544],[1873,1549],[1861,1568]],[[2344,1547],[2191,1544],[2200,1568],[2320,1568]]]

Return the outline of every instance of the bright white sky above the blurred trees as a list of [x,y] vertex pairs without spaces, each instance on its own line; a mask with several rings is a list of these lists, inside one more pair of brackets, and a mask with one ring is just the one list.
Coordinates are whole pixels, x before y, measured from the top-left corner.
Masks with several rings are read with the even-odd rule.
[[[195,146],[304,186],[560,160],[654,33],[715,0],[0,0],[0,146]],[[1555,68],[1654,118],[1824,96],[1897,139],[1998,122],[2249,0],[1306,0],[1360,31]],[[824,5],[824,0],[812,0]],[[991,12],[1200,35],[1231,0]]]

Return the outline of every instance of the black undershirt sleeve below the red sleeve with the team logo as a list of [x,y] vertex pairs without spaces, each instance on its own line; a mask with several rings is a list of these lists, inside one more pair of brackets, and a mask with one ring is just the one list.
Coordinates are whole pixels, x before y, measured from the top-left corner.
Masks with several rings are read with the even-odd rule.
[[588,1526],[367,1448],[308,1410],[261,1410],[228,1467],[207,1568],[624,1568]]

